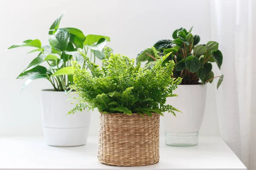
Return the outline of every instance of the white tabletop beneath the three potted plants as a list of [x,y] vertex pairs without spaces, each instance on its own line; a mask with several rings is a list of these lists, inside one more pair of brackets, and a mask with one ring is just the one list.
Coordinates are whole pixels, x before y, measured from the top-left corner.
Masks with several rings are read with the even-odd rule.
[[199,137],[198,146],[171,147],[160,138],[160,161],[141,167],[116,167],[97,160],[97,136],[78,147],[52,147],[43,137],[0,137],[0,169],[170,169],[246,170],[218,136]]

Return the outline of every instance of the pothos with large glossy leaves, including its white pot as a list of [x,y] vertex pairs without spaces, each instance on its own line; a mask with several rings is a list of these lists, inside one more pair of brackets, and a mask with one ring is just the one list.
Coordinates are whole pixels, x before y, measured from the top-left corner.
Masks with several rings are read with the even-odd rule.
[[[73,108],[73,105],[67,104],[68,96],[65,96],[73,84],[73,76],[51,75],[58,74],[61,69],[70,69],[73,60],[79,62],[82,68],[88,68],[77,51],[80,48],[90,53],[94,62],[96,57],[103,59],[102,49],[110,39],[92,34],[85,36],[77,28],[58,28],[62,16],[50,27],[49,45],[42,46],[40,40],[26,40],[8,49],[29,46],[36,48],[29,53],[39,52],[17,79],[26,79],[22,89],[35,79],[44,78],[52,84],[52,89],[41,91],[41,121],[46,143],[52,146],[77,146],[87,142],[90,113],[66,116],[67,111]],[[47,68],[41,65],[44,62],[48,64]]]

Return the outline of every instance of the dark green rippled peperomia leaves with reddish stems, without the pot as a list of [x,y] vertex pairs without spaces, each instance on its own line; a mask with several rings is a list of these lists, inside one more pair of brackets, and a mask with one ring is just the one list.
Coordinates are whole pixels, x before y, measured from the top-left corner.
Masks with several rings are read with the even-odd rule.
[[[163,56],[170,52],[171,55],[163,62],[163,65],[169,60],[175,62],[173,77],[182,77],[181,84],[195,85],[201,80],[202,84],[212,83],[213,79],[219,77],[217,89],[221,85],[223,75],[214,77],[212,72],[212,63],[216,62],[219,69],[223,56],[218,50],[218,42],[209,41],[207,44],[198,45],[200,37],[191,33],[192,28],[187,31],[185,28],[179,28],[172,34],[174,40],[160,40],[154,44],[158,54]],[[137,56],[137,61],[152,62],[157,57],[151,48],[147,48]]]

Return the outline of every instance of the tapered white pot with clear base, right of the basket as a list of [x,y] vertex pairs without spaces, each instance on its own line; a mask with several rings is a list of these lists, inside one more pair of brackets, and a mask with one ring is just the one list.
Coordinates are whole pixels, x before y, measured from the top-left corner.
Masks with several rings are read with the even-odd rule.
[[206,85],[178,85],[174,91],[177,97],[167,98],[182,113],[176,116],[164,115],[166,144],[172,146],[193,146],[198,144],[198,134],[204,117]]

